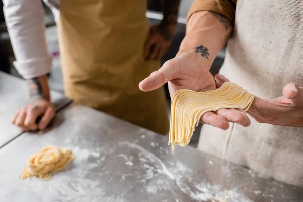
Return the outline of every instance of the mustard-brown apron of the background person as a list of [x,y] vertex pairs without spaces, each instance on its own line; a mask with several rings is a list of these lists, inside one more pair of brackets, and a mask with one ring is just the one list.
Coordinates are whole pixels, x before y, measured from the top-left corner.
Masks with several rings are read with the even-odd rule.
[[61,1],[58,27],[65,93],[77,103],[166,134],[164,89],[144,93],[138,88],[159,68],[159,61],[143,60],[145,12],[146,2],[141,0]]

